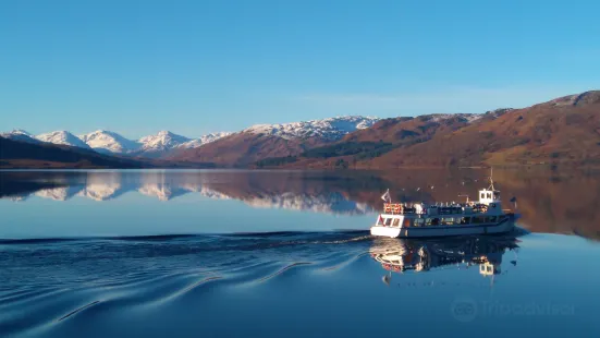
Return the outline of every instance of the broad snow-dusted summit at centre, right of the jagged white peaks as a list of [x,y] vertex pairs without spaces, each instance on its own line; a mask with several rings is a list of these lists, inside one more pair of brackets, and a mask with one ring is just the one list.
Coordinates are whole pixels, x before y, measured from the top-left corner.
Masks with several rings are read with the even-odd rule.
[[338,117],[325,120],[291,122],[281,124],[256,124],[243,132],[279,136],[286,140],[321,137],[340,140],[345,134],[374,125],[378,118],[371,117]]

